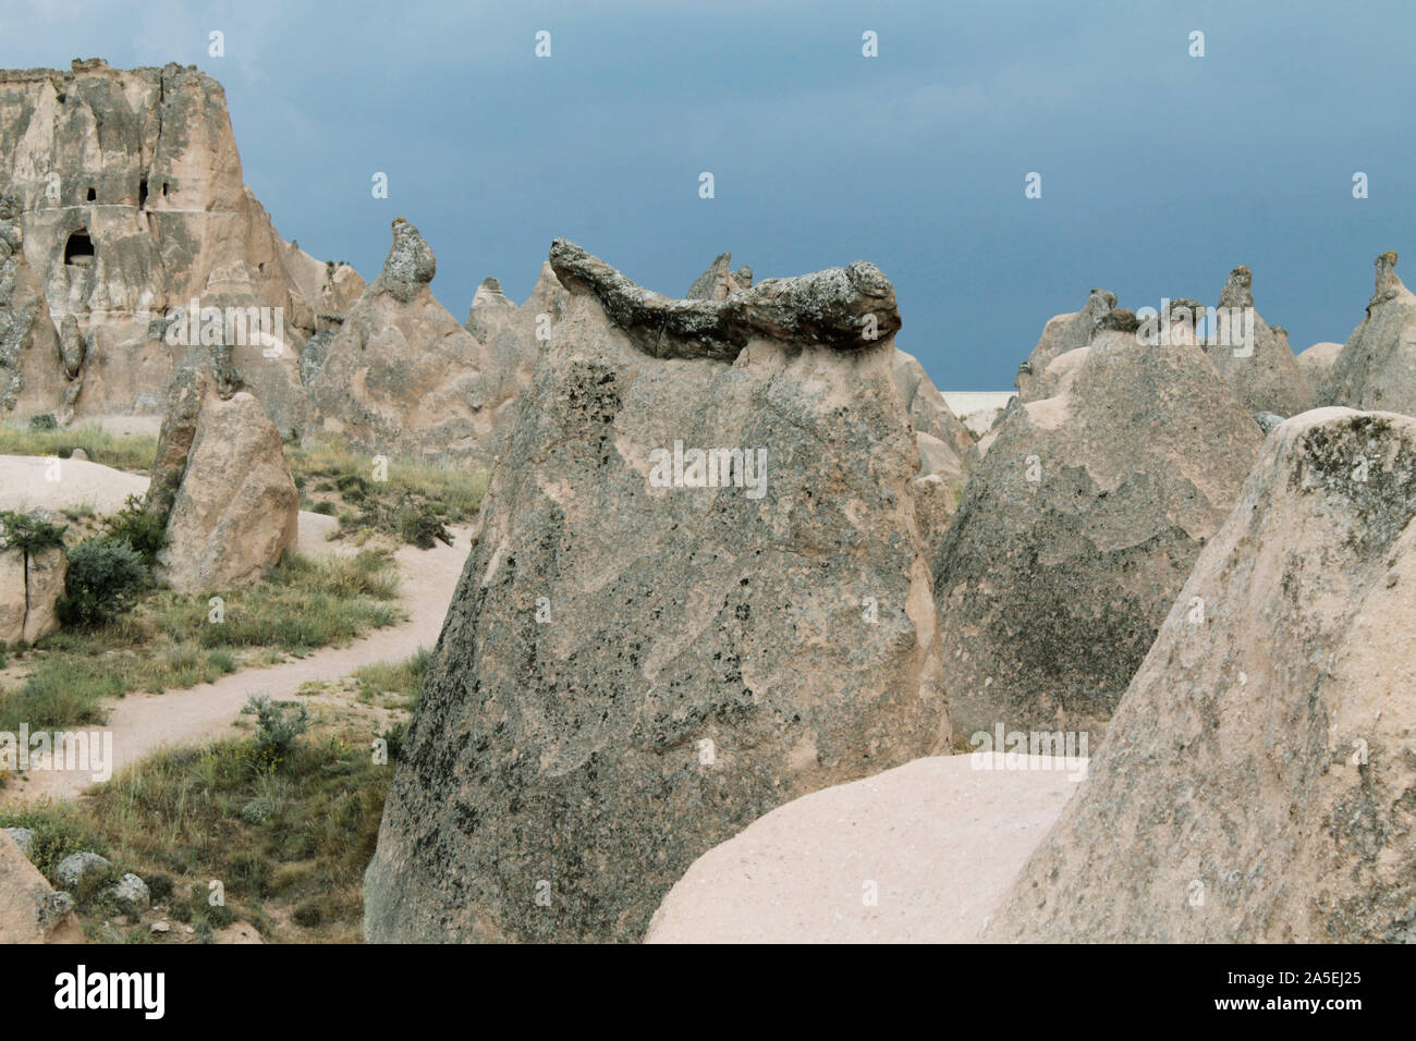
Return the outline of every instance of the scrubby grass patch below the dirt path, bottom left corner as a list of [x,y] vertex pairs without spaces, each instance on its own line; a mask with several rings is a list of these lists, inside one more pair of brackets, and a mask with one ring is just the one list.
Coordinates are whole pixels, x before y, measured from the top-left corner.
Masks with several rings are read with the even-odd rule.
[[[163,880],[161,914],[198,933],[244,918],[280,939],[357,942],[364,867],[378,838],[391,766],[370,736],[326,728],[297,742],[278,769],[256,744],[227,739],[159,752],[122,770],[81,803],[0,813],[0,826],[35,829],[40,870],[68,853],[108,855],[115,872]],[[208,902],[219,880],[225,906]],[[157,891],[154,889],[154,897]],[[140,925],[103,928],[106,894],[78,899],[91,939],[146,942]]]

